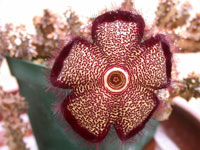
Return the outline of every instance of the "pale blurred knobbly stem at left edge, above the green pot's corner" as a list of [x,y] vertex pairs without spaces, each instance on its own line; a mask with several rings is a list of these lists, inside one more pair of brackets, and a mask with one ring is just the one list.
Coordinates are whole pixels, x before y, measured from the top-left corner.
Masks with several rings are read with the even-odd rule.
[[37,55],[31,44],[32,35],[28,34],[24,25],[6,24],[0,27],[0,59],[6,55],[32,60]]

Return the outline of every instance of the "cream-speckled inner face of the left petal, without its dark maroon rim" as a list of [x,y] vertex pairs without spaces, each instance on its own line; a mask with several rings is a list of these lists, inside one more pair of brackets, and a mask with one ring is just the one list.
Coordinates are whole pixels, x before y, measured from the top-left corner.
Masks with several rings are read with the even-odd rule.
[[77,41],[64,61],[58,80],[73,88],[76,95],[94,89],[99,84],[100,72],[106,67],[106,60],[99,59],[97,50],[94,51],[91,46]]

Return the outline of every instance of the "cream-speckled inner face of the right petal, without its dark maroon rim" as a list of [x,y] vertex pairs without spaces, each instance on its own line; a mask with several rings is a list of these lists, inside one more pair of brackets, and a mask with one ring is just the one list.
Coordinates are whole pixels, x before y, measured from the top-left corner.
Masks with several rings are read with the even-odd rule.
[[132,81],[139,81],[143,86],[162,87],[167,84],[166,60],[160,43],[144,49],[132,64]]

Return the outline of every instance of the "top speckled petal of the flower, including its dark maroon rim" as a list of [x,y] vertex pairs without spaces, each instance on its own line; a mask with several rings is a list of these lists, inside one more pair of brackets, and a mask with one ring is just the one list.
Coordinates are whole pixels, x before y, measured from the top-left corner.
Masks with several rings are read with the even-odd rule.
[[93,22],[92,37],[108,56],[128,56],[140,42],[144,31],[144,20],[139,14],[112,11],[97,17]]

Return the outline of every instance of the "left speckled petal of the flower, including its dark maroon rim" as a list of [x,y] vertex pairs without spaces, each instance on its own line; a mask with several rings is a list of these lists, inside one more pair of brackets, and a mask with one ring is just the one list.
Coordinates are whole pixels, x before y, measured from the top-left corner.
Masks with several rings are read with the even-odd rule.
[[76,38],[67,44],[56,58],[50,79],[54,86],[72,88],[76,94],[95,88],[105,68],[91,44]]

